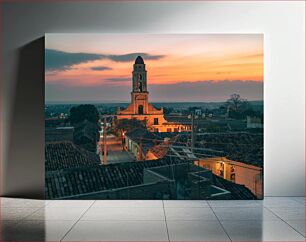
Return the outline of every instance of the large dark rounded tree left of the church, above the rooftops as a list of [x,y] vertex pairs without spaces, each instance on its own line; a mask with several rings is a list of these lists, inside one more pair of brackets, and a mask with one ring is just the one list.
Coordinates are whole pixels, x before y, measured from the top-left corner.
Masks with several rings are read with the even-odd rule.
[[99,112],[94,105],[82,104],[70,109],[70,123],[72,125],[88,120],[92,123],[98,123]]

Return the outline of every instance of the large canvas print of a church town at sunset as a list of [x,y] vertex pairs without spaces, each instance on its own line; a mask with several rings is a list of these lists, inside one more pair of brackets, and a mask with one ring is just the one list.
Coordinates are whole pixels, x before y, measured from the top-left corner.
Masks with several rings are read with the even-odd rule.
[[262,199],[262,34],[46,34],[46,199]]

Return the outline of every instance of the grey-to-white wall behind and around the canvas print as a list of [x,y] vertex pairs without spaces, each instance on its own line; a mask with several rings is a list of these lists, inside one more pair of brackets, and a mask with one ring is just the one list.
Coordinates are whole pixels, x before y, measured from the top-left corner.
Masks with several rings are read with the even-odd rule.
[[[9,154],[18,48],[44,33],[264,33],[265,195],[302,196],[305,186],[305,7],[293,1],[65,2],[4,4],[4,195],[43,194],[43,150]],[[34,94],[35,95],[35,94]],[[35,104],[33,104],[35,106]],[[31,108],[34,109],[34,106]],[[26,122],[41,119],[43,107]],[[31,136],[33,142],[43,137]],[[15,142],[15,141],[14,141]],[[17,142],[17,141],[16,141]],[[15,144],[24,147],[21,142]],[[14,149],[14,152],[21,152]],[[31,154],[30,154],[31,153]],[[19,161],[23,157],[23,163]],[[24,162],[27,165],[24,165]],[[20,168],[22,167],[22,168]],[[31,167],[31,169],[29,169]],[[23,169],[26,168],[26,169]],[[38,170],[37,170],[38,169]],[[35,190],[35,191],[34,191]]]

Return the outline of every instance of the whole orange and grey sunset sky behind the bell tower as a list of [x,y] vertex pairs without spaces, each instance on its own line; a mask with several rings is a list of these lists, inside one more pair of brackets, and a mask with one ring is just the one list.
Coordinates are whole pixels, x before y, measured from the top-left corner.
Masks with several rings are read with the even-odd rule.
[[263,99],[263,35],[47,34],[46,102],[129,101],[141,55],[152,102]]

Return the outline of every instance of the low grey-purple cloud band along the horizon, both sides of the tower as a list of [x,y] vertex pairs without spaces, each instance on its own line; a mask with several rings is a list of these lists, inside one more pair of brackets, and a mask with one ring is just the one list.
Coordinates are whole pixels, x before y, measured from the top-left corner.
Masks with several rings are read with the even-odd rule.
[[[46,83],[46,101],[129,101],[131,83],[128,78],[113,78],[99,86],[70,86],[64,82]],[[113,81],[113,82],[111,82]],[[117,81],[117,82],[116,82]],[[125,82],[118,85],[121,82]],[[129,79],[129,81],[131,81]],[[148,86],[150,102],[225,101],[233,93],[248,100],[263,99],[263,83],[257,81],[198,81]]]

